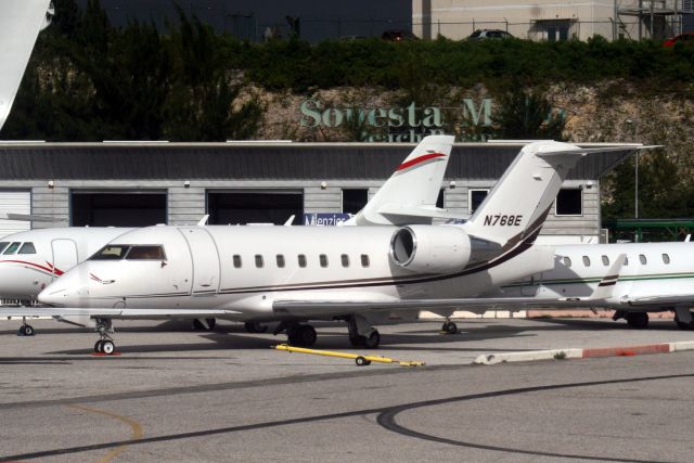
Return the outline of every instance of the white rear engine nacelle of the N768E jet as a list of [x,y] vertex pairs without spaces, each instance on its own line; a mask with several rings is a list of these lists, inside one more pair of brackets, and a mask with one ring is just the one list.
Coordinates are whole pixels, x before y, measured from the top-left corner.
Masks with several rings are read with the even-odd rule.
[[390,258],[421,273],[449,273],[464,268],[472,254],[471,240],[459,227],[402,227],[390,239]]

